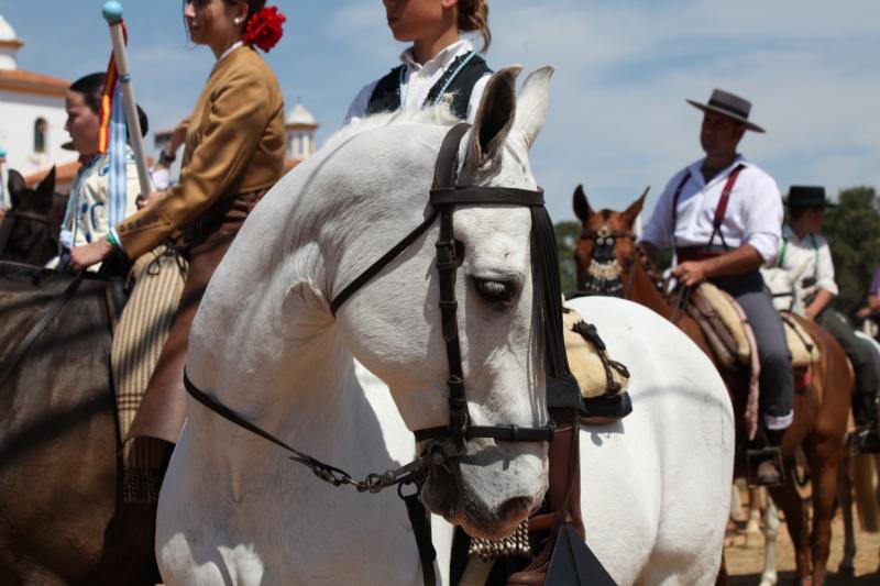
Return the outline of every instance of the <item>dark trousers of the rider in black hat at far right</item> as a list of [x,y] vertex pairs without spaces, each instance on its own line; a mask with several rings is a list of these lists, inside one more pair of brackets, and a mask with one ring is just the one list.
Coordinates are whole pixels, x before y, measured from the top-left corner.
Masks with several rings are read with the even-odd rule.
[[826,307],[816,316],[816,323],[843,346],[856,372],[856,395],[853,397],[853,418],[859,425],[877,422],[877,389],[880,387],[873,351],[859,340],[849,320],[839,311]]

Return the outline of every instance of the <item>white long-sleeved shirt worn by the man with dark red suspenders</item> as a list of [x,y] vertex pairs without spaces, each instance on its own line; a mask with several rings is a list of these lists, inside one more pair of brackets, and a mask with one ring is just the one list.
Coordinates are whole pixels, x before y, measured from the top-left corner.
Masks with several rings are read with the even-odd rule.
[[[660,195],[650,221],[641,239],[658,247],[705,246],[713,231],[715,208],[718,206],[727,177],[737,165],[745,165],[739,173],[727,212],[721,226],[724,242],[733,250],[750,244],[761,258],[776,258],[781,241],[782,196],[776,181],[757,165],[737,155],[734,163],[713,177],[703,179],[700,159],[675,174]],[[672,226],[672,200],[684,176],[690,174],[678,202],[678,219],[674,233]],[[715,236],[713,247],[722,246]]]

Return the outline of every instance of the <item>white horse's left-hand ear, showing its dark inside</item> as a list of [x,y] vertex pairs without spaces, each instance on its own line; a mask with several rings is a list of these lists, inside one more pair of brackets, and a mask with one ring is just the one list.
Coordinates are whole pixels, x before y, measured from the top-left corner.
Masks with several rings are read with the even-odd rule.
[[471,131],[471,156],[477,168],[502,152],[516,117],[516,77],[522,67],[512,65],[493,75],[483,91]]

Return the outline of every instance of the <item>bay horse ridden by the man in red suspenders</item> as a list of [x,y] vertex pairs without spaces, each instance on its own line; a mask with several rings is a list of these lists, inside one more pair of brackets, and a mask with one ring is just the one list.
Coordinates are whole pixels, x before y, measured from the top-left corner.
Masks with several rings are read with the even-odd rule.
[[[715,357],[703,335],[700,325],[686,312],[676,311],[674,302],[663,294],[658,285],[656,272],[647,256],[636,246],[634,224],[641,212],[645,196],[636,200],[624,212],[590,208],[583,188],[574,191],[574,213],[582,222],[583,232],[574,257],[578,265],[578,287],[586,288],[596,275],[608,276],[608,284],[592,284],[593,289],[619,289],[627,298],[645,305],[684,331],[713,361]],[[600,236],[600,234],[603,234]],[[613,239],[614,258],[604,259],[604,267],[591,265],[597,246],[596,239],[606,239],[603,250],[607,251]],[[613,262],[616,261],[616,265]],[[615,267],[615,268],[610,268]],[[616,280],[616,283],[615,283]],[[796,572],[802,583],[823,584],[825,566],[831,545],[831,520],[835,499],[837,468],[844,450],[847,413],[853,395],[853,369],[843,349],[834,338],[813,321],[799,319],[818,345],[821,358],[813,366],[813,379],[807,388],[795,394],[794,421],[787,430],[782,441],[782,455],[785,461],[787,483],[770,489],[777,504],[785,512],[789,533],[795,546]],[[745,472],[746,429],[743,421],[745,399],[748,389],[748,374],[727,372],[716,362],[716,367],[727,383],[737,417],[737,457],[735,476]],[[799,494],[792,474],[796,446],[802,446],[810,463],[813,484],[813,528],[809,527],[807,509]]]

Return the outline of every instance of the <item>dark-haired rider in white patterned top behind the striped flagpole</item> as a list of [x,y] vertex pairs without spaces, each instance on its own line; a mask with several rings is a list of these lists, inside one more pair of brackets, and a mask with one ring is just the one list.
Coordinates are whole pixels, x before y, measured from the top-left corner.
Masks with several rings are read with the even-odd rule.
[[[107,237],[112,218],[117,221],[133,213],[138,208],[135,200],[141,192],[138,183],[138,167],[131,146],[125,145],[125,194],[121,201],[122,209],[116,209],[119,202],[109,197],[109,153],[98,153],[98,132],[100,126],[101,92],[105,74],[97,73],[81,77],[67,89],[64,100],[67,110],[65,129],[70,134],[74,151],[79,153],[82,166],[76,174],[67,211],[64,214],[61,232],[61,251],[58,256],[47,266],[58,266],[62,258],[69,254],[74,246],[81,246]],[[146,134],[146,114],[138,108],[141,133]],[[98,270],[100,264],[89,267]]]

